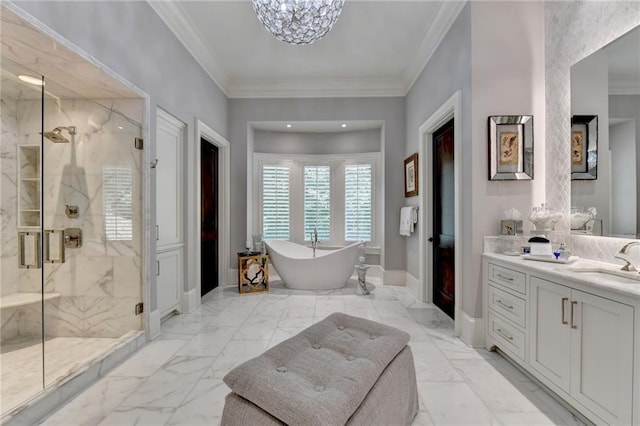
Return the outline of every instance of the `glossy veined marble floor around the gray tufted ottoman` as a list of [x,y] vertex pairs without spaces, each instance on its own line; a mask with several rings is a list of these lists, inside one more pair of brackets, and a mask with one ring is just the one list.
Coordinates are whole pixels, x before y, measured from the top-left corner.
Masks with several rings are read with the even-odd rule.
[[500,355],[466,346],[437,308],[404,287],[354,294],[214,290],[195,312],[162,324],[159,338],[46,418],[45,425],[219,424],[236,365],[336,311],[407,331],[414,354],[422,425],[582,425]]

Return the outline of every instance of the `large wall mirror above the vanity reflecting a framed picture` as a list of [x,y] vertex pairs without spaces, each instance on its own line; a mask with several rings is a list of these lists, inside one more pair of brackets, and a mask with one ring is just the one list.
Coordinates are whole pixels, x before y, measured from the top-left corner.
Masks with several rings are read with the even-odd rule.
[[638,238],[640,26],[571,67],[571,232]]

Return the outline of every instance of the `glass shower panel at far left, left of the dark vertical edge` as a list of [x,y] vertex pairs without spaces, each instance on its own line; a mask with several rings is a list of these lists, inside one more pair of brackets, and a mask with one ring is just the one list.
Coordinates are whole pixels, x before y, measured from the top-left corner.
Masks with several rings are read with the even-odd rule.
[[[44,387],[43,79],[1,61],[0,401],[2,415]],[[23,126],[22,117],[32,123]]]

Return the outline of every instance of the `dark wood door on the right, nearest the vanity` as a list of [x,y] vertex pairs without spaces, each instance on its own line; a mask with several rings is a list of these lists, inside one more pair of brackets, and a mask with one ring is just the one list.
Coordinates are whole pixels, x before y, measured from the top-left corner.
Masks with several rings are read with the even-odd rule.
[[451,318],[454,317],[453,119],[433,134],[433,303]]

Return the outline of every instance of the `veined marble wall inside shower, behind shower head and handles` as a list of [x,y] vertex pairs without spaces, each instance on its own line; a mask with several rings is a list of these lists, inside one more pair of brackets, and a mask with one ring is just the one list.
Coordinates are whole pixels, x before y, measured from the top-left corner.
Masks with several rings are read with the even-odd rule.
[[[142,151],[133,146],[134,138],[141,136],[141,127],[116,112],[140,111],[141,114],[142,104],[137,100],[101,103],[107,107],[87,100],[45,101],[45,131],[76,126],[77,134],[70,136],[63,131],[70,143],[45,139],[44,228],[80,228],[84,240],[81,248],[66,249],[65,263],[44,265],[45,292],[60,295],[45,303],[47,336],[119,337],[142,328],[141,316],[134,315],[135,304],[142,301]],[[3,109],[3,125],[5,112]],[[39,144],[40,102],[18,101],[15,116],[18,143]],[[3,293],[8,282],[17,284],[13,285],[15,289],[7,285],[6,291],[39,292],[40,272],[17,269],[16,208],[15,202],[7,198],[11,192],[15,197],[15,183],[12,191],[5,193],[4,187],[5,180],[15,182],[16,179],[15,148],[10,150],[13,159],[5,158],[4,146],[3,126],[2,205],[3,209],[7,205],[11,208],[3,210]],[[14,170],[6,173],[5,165],[8,168],[12,165]],[[116,215],[125,228],[132,228],[132,237],[126,232],[123,239],[107,237],[103,171],[109,168],[124,170],[124,176],[130,174],[132,178],[133,220],[128,221],[126,216],[123,220]],[[78,218],[66,216],[67,204],[78,206]],[[40,333],[39,304],[22,307],[13,316],[19,335]],[[2,332],[4,339],[4,318]]]

